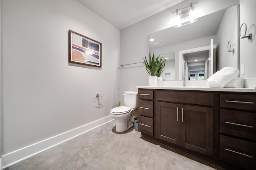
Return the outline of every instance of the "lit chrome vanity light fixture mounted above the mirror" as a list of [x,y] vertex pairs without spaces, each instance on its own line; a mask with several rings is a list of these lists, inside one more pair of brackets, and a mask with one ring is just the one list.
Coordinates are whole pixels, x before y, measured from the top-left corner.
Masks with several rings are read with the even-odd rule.
[[194,4],[190,3],[189,6],[186,6],[185,8],[181,8],[181,9],[176,9],[176,11],[172,12],[172,14],[176,13],[176,19],[175,19],[176,26],[174,28],[197,21],[196,19],[194,19],[194,16],[195,16],[194,5],[196,4],[198,4],[198,2]]

